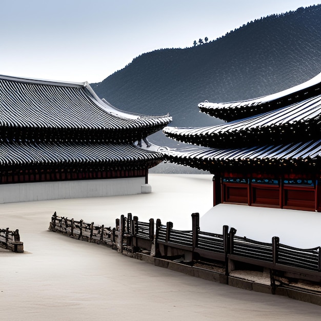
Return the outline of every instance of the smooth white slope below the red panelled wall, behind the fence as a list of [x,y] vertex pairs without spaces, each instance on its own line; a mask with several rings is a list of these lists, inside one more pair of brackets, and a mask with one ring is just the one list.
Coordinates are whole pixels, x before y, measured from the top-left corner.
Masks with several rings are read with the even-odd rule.
[[219,204],[200,217],[200,230],[222,234],[223,225],[234,227],[237,236],[309,249],[321,246],[321,213]]

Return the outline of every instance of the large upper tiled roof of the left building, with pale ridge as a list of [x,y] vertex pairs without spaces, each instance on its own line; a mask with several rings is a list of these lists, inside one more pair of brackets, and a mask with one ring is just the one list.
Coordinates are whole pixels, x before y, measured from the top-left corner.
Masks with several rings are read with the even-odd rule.
[[[117,110],[99,99],[88,83],[62,83],[0,76],[0,127],[10,135],[12,129],[48,133],[64,130],[64,135],[89,131],[112,141],[123,136],[115,132],[131,132],[147,136],[166,126],[169,115],[145,116]],[[78,138],[78,137],[77,137]],[[53,139],[53,137],[51,137]],[[126,140],[130,140],[126,137]]]

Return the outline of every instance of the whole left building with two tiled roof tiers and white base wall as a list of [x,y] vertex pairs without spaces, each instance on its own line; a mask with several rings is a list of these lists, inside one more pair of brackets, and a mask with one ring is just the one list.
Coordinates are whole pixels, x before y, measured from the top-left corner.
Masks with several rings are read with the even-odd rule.
[[0,76],[0,203],[149,192],[169,115],[117,110],[86,83]]

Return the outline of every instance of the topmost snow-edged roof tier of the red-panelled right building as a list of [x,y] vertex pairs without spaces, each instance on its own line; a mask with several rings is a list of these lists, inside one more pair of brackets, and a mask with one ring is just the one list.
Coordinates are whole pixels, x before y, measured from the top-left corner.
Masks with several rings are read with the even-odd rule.
[[303,84],[271,95],[230,103],[209,103],[206,101],[200,103],[198,107],[204,113],[230,122],[234,119],[279,109],[320,93],[321,73]]

